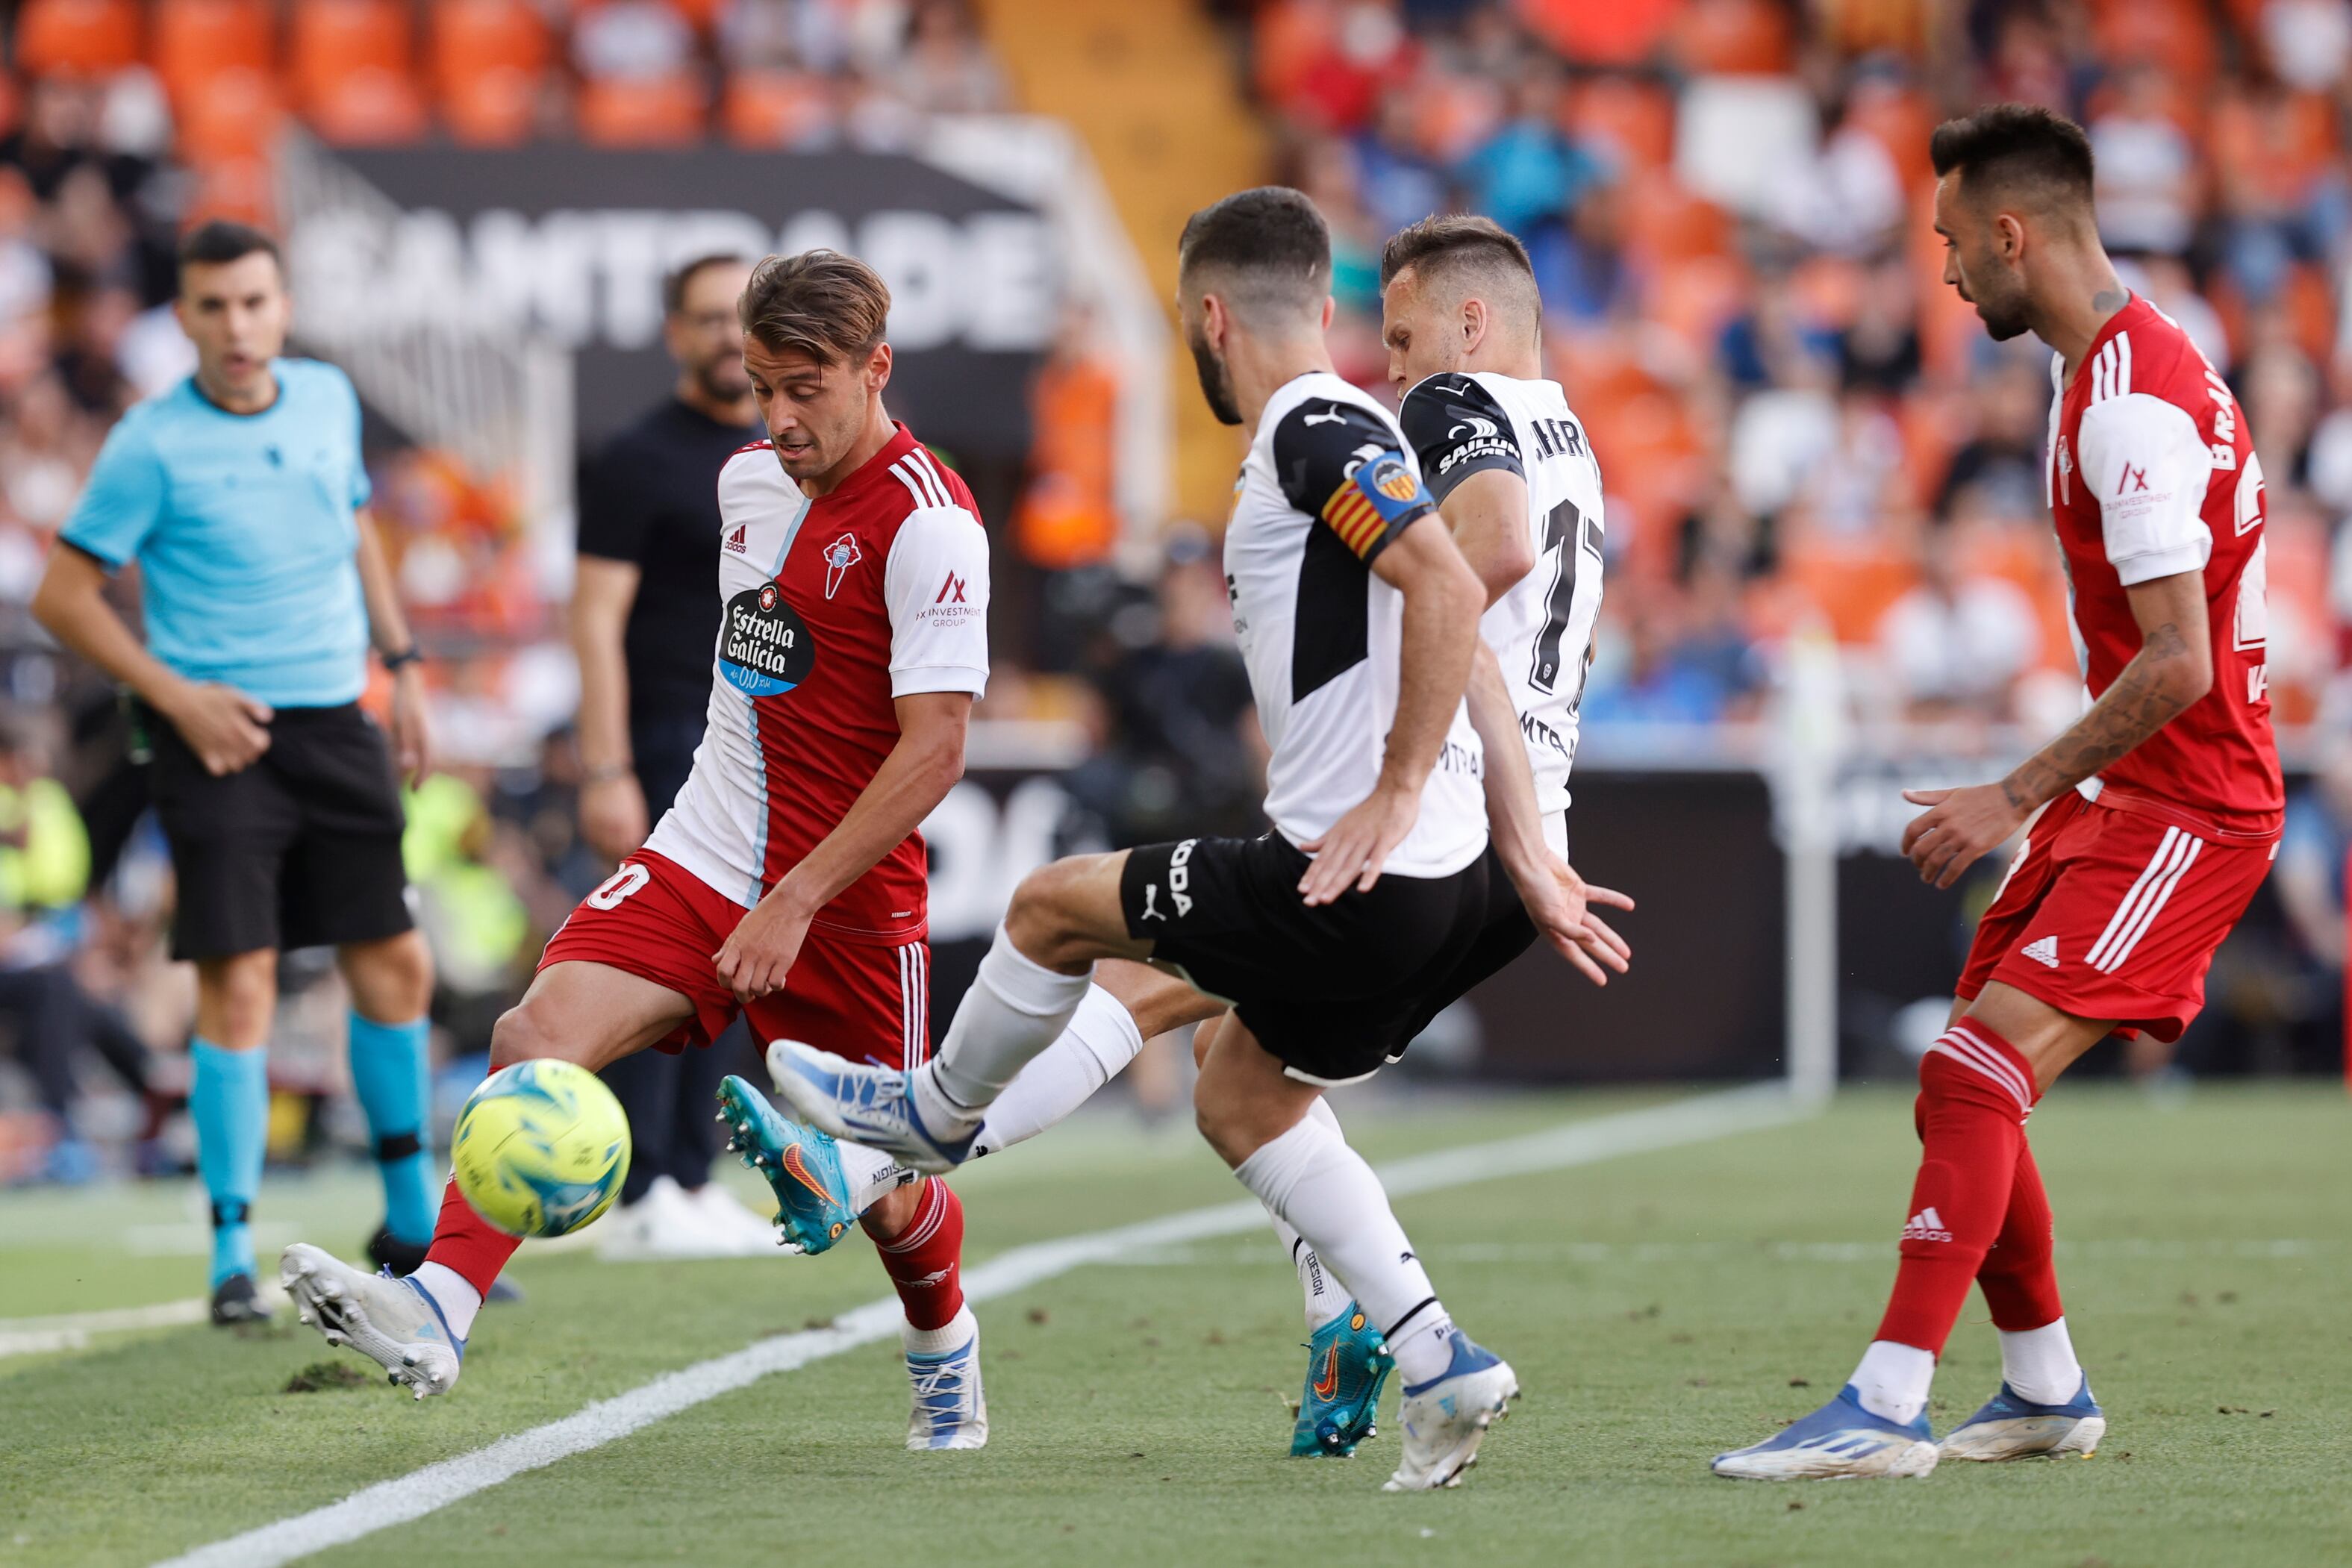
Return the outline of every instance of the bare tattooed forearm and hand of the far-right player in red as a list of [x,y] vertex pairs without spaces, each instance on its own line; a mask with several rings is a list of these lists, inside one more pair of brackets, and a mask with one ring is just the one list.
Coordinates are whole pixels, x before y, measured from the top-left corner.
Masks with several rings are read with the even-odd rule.
[[2213,686],[2204,571],[2176,571],[2124,592],[2140,625],[2140,651],[2082,719],[1999,783],[1903,792],[1915,806],[1929,806],[1903,830],[1903,853],[1922,882],[1952,886],[2034,811],[2122,762]]

